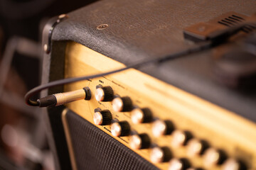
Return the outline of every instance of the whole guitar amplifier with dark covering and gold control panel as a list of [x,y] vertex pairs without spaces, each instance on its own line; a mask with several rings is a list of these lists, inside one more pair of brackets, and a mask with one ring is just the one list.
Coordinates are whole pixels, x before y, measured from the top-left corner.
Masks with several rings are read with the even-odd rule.
[[43,84],[156,60],[43,91],[87,88],[86,100],[43,110],[56,169],[256,169],[255,26],[168,57],[252,21],[255,9],[249,0],[109,0],[52,18]]

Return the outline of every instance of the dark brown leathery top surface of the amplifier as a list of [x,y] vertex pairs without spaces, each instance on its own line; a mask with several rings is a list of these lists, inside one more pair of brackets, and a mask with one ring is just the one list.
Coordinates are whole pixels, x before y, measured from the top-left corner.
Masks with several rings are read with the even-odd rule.
[[[55,26],[52,39],[79,42],[129,65],[190,47],[192,43],[183,38],[183,30],[188,26],[214,20],[230,11],[227,17],[237,16],[235,19],[239,20],[251,16],[255,8],[255,1],[235,0],[99,1],[68,13],[68,18]],[[227,17],[218,19],[221,21]],[[98,26],[106,27],[99,29]],[[140,70],[256,121],[255,88],[248,93],[230,89],[216,81],[215,58],[222,52],[217,48],[177,60],[149,64]]]

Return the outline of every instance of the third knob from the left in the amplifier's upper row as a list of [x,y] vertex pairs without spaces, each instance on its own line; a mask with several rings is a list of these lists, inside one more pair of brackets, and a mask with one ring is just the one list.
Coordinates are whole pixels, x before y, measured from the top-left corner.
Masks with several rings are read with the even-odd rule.
[[152,113],[149,108],[134,108],[131,114],[132,123],[149,123],[152,120]]

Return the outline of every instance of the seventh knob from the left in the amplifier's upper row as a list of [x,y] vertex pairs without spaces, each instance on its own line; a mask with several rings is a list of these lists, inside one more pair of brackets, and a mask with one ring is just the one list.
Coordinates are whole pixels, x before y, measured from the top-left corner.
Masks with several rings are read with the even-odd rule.
[[207,168],[211,168],[217,164],[223,164],[225,159],[226,155],[223,151],[210,147],[203,155],[203,164]]

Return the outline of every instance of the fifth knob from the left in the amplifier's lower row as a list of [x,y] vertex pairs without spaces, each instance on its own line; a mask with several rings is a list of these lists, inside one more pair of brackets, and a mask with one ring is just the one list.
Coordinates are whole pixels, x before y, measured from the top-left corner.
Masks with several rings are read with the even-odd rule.
[[190,167],[190,163],[188,162],[188,159],[181,158],[181,159],[171,159],[169,162],[169,168],[168,170],[185,170]]

